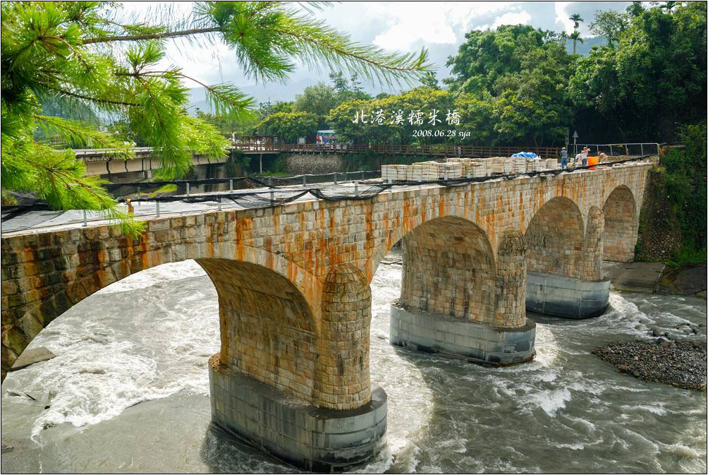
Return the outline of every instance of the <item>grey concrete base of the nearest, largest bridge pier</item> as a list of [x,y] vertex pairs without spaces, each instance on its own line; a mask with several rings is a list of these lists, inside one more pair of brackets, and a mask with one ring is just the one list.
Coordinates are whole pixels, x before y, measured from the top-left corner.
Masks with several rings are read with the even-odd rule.
[[341,471],[371,459],[385,442],[387,396],[372,386],[371,401],[331,410],[210,364],[212,422],[253,447],[309,471]]

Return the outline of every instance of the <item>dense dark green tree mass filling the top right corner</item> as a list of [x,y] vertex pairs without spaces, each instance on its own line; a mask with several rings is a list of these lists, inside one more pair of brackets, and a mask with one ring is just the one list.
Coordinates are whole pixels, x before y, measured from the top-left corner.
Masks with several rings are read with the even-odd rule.
[[632,14],[616,47],[578,59],[568,88],[578,128],[632,142],[675,140],[676,123],[698,123],[707,112],[706,4]]

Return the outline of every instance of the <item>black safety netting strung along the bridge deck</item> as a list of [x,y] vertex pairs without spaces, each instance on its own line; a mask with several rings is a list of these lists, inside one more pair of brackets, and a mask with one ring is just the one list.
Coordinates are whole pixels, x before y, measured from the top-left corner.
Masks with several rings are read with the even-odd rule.
[[[612,165],[622,164],[627,162],[636,162],[646,159],[650,155],[640,157],[632,157],[627,160],[619,160],[612,162]],[[603,164],[600,164],[602,166]],[[130,200],[130,206],[135,213],[135,218],[149,217],[163,214],[184,213],[190,210],[185,207],[172,207],[171,204],[182,203],[183,205],[205,204],[209,208],[217,209],[234,209],[234,208],[267,208],[271,206],[280,206],[285,203],[294,201],[302,201],[307,199],[322,199],[326,201],[360,201],[372,199],[377,194],[389,189],[401,188],[406,186],[422,186],[430,184],[438,184],[440,186],[464,186],[470,183],[480,183],[496,179],[515,179],[518,177],[539,177],[545,179],[561,173],[575,173],[581,170],[594,169],[598,165],[578,166],[573,169],[553,169],[542,170],[538,172],[524,172],[518,174],[491,174],[485,177],[476,178],[457,178],[457,179],[438,179],[428,181],[394,181],[384,183],[380,180],[372,178],[380,177],[379,171],[367,172],[340,172],[338,174],[321,174],[321,175],[297,175],[294,177],[236,177],[236,178],[212,178],[212,179],[190,179],[190,180],[172,180],[172,181],[144,181],[135,183],[123,184],[106,184],[105,189],[113,193],[114,191],[125,186],[134,186],[136,189],[155,189],[168,184],[177,186],[187,186],[196,194],[173,194],[169,196],[149,196],[147,194],[138,194],[135,192],[132,198],[119,198],[119,203],[126,203]],[[336,176],[335,176],[336,175]],[[322,180],[322,181],[318,181]],[[304,184],[303,184],[304,181]],[[309,184],[325,184],[324,186],[307,186]],[[231,191],[206,192],[198,191],[198,186],[213,184],[228,184]],[[243,189],[237,189],[241,184]],[[258,189],[252,188],[258,187]],[[189,192],[189,191],[188,191]],[[125,196],[125,194],[123,194]],[[146,208],[145,205],[151,206]],[[154,206],[154,208],[152,208]],[[59,217],[62,213],[70,211],[53,211],[47,203],[41,201],[23,204],[20,206],[4,206],[2,208],[1,220],[6,223],[14,218],[21,217],[30,211],[42,211],[43,213],[35,213],[32,220],[29,220],[26,225],[11,226],[11,231],[21,230],[40,225],[42,222],[50,221]],[[75,213],[82,211],[72,210]],[[96,215],[96,219],[102,218],[100,211],[90,211]],[[86,220],[86,213],[84,213]],[[42,221],[43,220],[43,221]],[[76,223],[81,220],[81,216],[76,214],[72,220],[64,220],[62,224]],[[4,226],[5,228],[5,226]]]

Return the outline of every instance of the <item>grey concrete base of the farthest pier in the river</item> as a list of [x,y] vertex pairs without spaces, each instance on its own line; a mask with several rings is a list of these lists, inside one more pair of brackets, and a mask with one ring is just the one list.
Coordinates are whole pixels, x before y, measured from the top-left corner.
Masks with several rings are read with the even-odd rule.
[[605,313],[610,299],[610,281],[578,279],[527,272],[526,309],[564,318],[590,318]]

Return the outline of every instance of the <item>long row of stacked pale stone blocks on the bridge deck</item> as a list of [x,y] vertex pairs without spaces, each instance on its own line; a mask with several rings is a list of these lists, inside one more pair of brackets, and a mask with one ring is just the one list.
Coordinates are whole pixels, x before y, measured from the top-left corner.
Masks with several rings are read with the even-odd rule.
[[557,170],[554,158],[539,160],[528,157],[448,158],[445,162],[417,162],[411,165],[382,165],[384,182],[438,181],[460,178],[493,177]]

